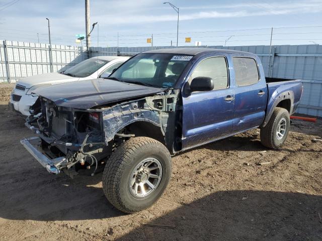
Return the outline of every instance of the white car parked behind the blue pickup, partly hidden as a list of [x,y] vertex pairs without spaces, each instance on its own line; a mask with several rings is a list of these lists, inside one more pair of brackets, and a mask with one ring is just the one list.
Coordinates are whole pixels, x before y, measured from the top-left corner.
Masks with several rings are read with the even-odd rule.
[[38,96],[31,95],[36,88],[71,81],[108,77],[112,71],[123,64],[129,57],[99,56],[84,60],[69,69],[58,73],[39,74],[17,81],[12,91],[9,107],[20,115],[28,116],[29,108]]

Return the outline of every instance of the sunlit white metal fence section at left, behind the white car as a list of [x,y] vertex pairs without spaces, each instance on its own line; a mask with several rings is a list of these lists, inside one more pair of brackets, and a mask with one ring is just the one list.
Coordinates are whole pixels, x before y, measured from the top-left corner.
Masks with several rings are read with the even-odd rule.
[[[50,54],[52,53],[52,63]],[[0,82],[16,82],[22,77],[64,70],[87,59],[82,47],[0,41]]]

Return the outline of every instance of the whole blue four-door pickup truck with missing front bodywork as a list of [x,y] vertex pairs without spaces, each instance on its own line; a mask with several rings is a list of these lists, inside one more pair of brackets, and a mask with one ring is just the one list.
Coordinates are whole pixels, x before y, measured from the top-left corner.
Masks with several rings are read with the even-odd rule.
[[260,128],[285,142],[300,80],[265,78],[252,53],[177,48],[140,53],[108,78],[37,88],[21,144],[48,172],[103,172],[107,199],[123,212],[152,205],[166,189],[171,156]]

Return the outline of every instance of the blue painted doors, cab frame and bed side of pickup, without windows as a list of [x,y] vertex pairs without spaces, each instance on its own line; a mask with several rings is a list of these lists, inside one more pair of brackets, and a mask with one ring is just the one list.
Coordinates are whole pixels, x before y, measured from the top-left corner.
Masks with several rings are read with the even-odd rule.
[[[226,57],[229,71],[227,89],[185,94],[185,85],[200,61],[211,56]],[[232,57],[254,58],[258,65],[260,79],[248,86],[237,86]],[[294,113],[302,93],[300,80],[284,80],[266,83],[264,69],[258,56],[243,52],[198,53],[187,66],[177,82],[181,88],[182,150],[201,146],[240,132],[265,126],[274,108],[282,100],[289,99],[290,114]],[[264,94],[259,94],[264,92]],[[226,96],[232,101],[225,101]]]

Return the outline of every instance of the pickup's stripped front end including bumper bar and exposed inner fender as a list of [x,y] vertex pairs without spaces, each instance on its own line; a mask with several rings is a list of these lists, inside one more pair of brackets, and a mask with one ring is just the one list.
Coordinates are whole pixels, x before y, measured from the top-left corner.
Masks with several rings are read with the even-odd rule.
[[82,170],[93,176],[120,143],[141,135],[134,130],[136,122],[158,128],[172,148],[177,98],[160,94],[85,110],[57,106],[40,96],[25,124],[37,137],[24,138],[21,144],[50,173],[73,177]]

